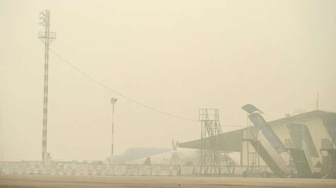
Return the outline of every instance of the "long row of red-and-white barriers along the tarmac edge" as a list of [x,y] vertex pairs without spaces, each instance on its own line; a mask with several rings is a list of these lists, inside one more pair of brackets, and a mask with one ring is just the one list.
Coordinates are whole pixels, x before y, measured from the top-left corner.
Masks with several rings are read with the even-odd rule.
[[41,162],[8,162],[0,163],[1,174],[42,174],[42,175],[75,175],[75,176],[177,176],[191,175],[193,166],[178,165],[123,165],[123,164],[83,164],[83,163],[50,163]]

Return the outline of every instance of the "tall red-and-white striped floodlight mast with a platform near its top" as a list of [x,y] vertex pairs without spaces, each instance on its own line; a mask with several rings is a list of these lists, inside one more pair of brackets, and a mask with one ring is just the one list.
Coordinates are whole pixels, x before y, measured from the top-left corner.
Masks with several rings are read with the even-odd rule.
[[43,89],[43,132],[42,132],[42,161],[45,163],[47,155],[47,122],[48,122],[48,59],[49,45],[55,41],[56,32],[49,32],[50,11],[40,12],[40,23],[45,31],[39,32],[39,39],[44,44],[44,89]]

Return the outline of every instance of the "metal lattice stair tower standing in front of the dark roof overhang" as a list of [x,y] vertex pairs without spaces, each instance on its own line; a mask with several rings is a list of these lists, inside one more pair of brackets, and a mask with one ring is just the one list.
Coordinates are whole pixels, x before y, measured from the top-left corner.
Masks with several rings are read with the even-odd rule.
[[230,157],[219,121],[218,109],[199,109],[201,121],[201,156],[195,174],[199,176],[229,176]]

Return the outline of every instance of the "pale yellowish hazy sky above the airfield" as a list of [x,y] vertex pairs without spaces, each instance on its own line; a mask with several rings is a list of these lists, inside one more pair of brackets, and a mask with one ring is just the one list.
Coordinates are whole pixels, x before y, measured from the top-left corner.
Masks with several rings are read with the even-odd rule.
[[[245,125],[246,103],[275,120],[298,110],[336,111],[336,1],[0,0],[0,102],[4,160],[41,160],[44,46],[127,97],[198,118],[219,108],[222,124]],[[49,55],[47,151],[65,159],[200,138],[200,124],[134,104]],[[223,131],[238,127],[223,127]]]

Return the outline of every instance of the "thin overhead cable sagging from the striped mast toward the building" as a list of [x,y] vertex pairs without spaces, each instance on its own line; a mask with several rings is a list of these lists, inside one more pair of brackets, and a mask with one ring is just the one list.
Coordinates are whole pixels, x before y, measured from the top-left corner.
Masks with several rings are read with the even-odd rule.
[[[133,103],[136,103],[140,106],[143,106],[145,108],[148,108],[148,109],[151,109],[151,110],[154,110],[154,111],[157,111],[161,114],[164,114],[164,115],[167,115],[167,116],[171,116],[171,117],[174,117],[174,118],[178,118],[178,119],[183,119],[183,120],[186,120],[186,121],[192,121],[192,122],[199,122],[197,120],[192,120],[192,119],[188,119],[188,118],[183,118],[181,116],[175,116],[173,114],[169,114],[168,112],[165,112],[165,111],[162,111],[160,109],[156,109],[156,108],[153,108],[153,107],[150,107],[150,106],[147,106],[143,103],[140,103],[140,102],[137,102],[129,97],[126,97],[125,95],[122,95],[121,93],[119,93],[118,91],[112,89],[111,87],[105,85],[105,84],[102,84],[101,82],[99,82],[98,80],[92,78],[89,74],[86,74],[85,72],[83,72],[82,70],[80,70],[79,68],[77,68],[76,66],[74,66],[73,64],[69,63],[68,61],[66,61],[64,58],[61,57],[61,55],[59,55],[58,53],[56,53],[54,50],[52,50],[51,48],[49,48],[49,50],[54,53],[58,58],[60,58],[63,62],[65,62],[67,65],[69,65],[70,67],[74,68],[75,70],[77,70],[78,72],[80,72],[81,74],[83,74],[83,76],[85,76],[86,78],[90,79],[91,81],[99,84],[100,86],[102,86],[103,88],[107,89],[107,90],[110,90],[114,93],[116,93],[117,95],[119,95],[120,97],[122,98],[125,98]],[[230,127],[244,127],[244,126],[239,126],[239,125],[222,125],[222,126],[230,126]]]

